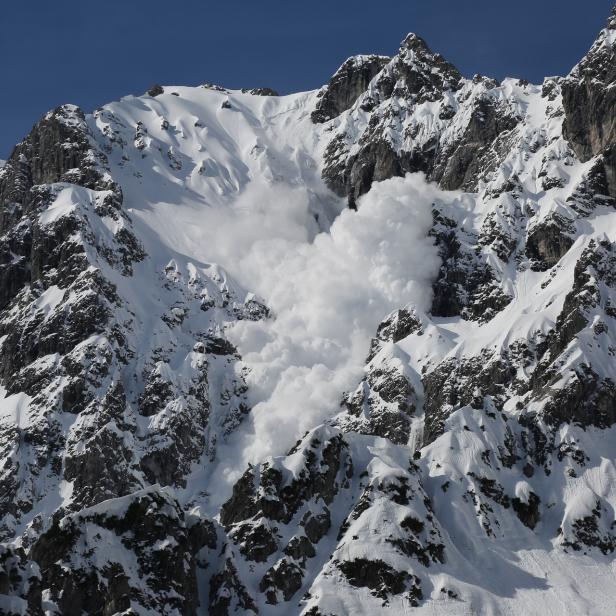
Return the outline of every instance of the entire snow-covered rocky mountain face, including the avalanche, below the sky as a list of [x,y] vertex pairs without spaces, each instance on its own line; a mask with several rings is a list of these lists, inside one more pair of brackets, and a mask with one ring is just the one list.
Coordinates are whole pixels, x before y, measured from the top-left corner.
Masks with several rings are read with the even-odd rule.
[[0,613],[613,614],[616,9],[316,92],[49,112],[0,167]]

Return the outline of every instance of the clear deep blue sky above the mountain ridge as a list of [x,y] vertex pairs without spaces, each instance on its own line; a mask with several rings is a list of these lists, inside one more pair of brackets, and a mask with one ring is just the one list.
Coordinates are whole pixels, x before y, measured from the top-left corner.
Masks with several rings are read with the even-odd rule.
[[585,53],[616,0],[11,0],[0,24],[0,158],[48,109],[154,83],[323,84],[356,53],[423,36],[466,75],[540,81]]

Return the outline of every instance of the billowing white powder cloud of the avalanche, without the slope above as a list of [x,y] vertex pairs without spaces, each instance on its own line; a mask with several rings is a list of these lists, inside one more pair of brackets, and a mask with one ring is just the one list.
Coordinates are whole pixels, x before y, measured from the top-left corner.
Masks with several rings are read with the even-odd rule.
[[236,455],[221,456],[237,463],[215,473],[225,483],[339,412],[389,312],[429,308],[440,259],[428,231],[442,195],[421,175],[387,180],[318,233],[306,195],[261,187],[234,206],[244,216],[218,221],[210,252],[275,315],[228,331],[250,368],[254,406],[226,445]]

